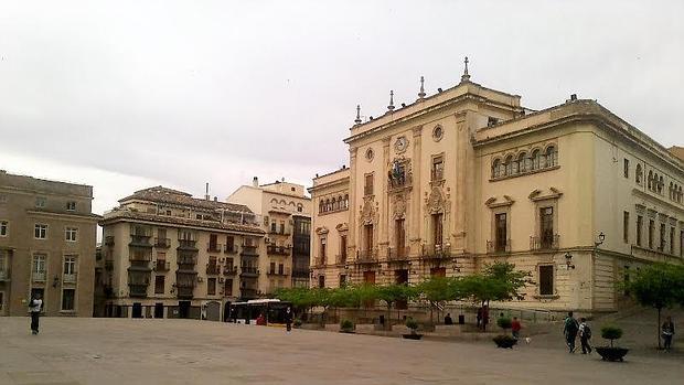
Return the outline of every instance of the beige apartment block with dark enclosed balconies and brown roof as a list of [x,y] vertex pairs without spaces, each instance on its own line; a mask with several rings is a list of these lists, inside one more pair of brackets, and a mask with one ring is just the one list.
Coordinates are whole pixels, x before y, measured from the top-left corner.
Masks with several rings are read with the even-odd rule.
[[267,290],[259,221],[162,186],[120,200],[100,222],[106,316],[225,319],[229,303]]

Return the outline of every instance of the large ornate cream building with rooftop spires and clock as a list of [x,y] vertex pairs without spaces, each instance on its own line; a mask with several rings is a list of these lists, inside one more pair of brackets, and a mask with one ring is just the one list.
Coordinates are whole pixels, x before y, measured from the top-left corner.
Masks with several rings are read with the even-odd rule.
[[[421,87],[367,121],[357,113],[344,142],[350,168],[311,190],[319,284],[415,284],[504,260],[535,281],[509,306],[602,311],[630,270],[684,260],[677,148],[594,100],[533,111],[466,69],[436,95]],[[340,245],[346,258],[330,258]]]

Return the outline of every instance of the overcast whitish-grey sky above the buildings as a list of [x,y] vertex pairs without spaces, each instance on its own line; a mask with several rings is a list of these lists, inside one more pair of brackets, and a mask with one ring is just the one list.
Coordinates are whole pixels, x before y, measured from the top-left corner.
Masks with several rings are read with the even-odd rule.
[[542,109],[597,99],[684,145],[684,1],[0,0],[0,169],[225,199],[311,183],[362,115],[471,81]]

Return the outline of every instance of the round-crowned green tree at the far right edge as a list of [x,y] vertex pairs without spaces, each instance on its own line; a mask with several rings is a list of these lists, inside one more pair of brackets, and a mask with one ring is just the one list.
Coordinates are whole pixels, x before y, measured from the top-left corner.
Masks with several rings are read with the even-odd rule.
[[662,310],[677,303],[684,306],[684,266],[653,264],[639,270],[634,279],[622,286],[641,306],[658,310],[658,347],[662,347]]

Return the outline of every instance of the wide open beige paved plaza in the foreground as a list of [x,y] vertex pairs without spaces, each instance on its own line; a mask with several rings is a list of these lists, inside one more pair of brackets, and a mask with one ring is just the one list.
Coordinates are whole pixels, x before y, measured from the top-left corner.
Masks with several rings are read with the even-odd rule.
[[407,341],[196,320],[0,318],[0,384],[682,384],[681,356]]

